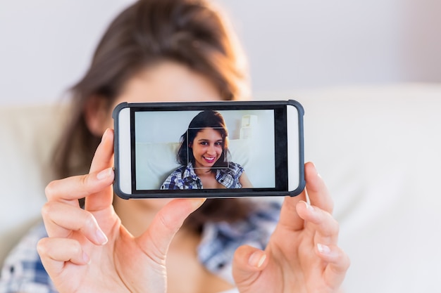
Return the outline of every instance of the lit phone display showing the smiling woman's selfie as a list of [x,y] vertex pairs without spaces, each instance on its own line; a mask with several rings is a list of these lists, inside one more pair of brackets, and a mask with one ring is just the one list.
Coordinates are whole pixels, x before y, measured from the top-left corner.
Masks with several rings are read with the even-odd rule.
[[[135,112],[135,190],[202,189],[194,175],[235,181],[237,172],[247,174],[252,188],[275,188],[275,111],[213,110],[201,117],[206,123],[192,126],[204,112],[210,111]],[[225,124],[209,121],[211,116]],[[242,188],[235,182],[214,185]]]

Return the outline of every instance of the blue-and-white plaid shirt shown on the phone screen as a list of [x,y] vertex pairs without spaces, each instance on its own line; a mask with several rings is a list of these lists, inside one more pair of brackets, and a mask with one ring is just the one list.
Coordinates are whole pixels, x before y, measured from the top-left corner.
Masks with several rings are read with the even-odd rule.
[[[240,164],[233,162],[228,163],[227,168],[216,169],[216,181],[221,183],[226,188],[242,188],[239,178],[244,172]],[[202,189],[202,181],[194,172],[192,162],[187,167],[182,166],[173,171],[164,183],[161,189]]]

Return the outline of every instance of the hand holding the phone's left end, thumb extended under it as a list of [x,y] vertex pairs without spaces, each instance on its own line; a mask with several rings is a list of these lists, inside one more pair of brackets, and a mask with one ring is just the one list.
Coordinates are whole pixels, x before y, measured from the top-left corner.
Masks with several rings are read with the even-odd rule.
[[[49,237],[37,249],[59,292],[166,292],[166,254],[175,233],[204,200],[166,204],[133,237],[113,206],[113,131],[108,129],[90,172],[52,181],[42,209]],[[85,197],[85,209],[78,199]]]

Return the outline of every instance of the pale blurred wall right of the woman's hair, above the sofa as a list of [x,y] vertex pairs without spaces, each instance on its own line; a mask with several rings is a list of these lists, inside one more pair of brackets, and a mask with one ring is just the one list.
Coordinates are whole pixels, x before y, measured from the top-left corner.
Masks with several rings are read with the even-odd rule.
[[221,1],[254,89],[441,82],[441,1]]

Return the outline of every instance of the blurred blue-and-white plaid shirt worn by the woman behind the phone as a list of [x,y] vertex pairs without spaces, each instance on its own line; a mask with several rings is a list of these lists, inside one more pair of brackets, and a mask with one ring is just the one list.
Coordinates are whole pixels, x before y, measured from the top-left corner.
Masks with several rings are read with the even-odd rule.
[[[208,222],[204,225],[202,240],[197,248],[199,261],[231,284],[232,256],[240,245],[264,249],[278,222],[279,202],[256,202],[249,217],[235,223]],[[0,275],[0,292],[56,293],[37,254],[37,242],[47,237],[43,223],[30,230],[6,258]],[[233,289],[224,293],[235,293]]]

